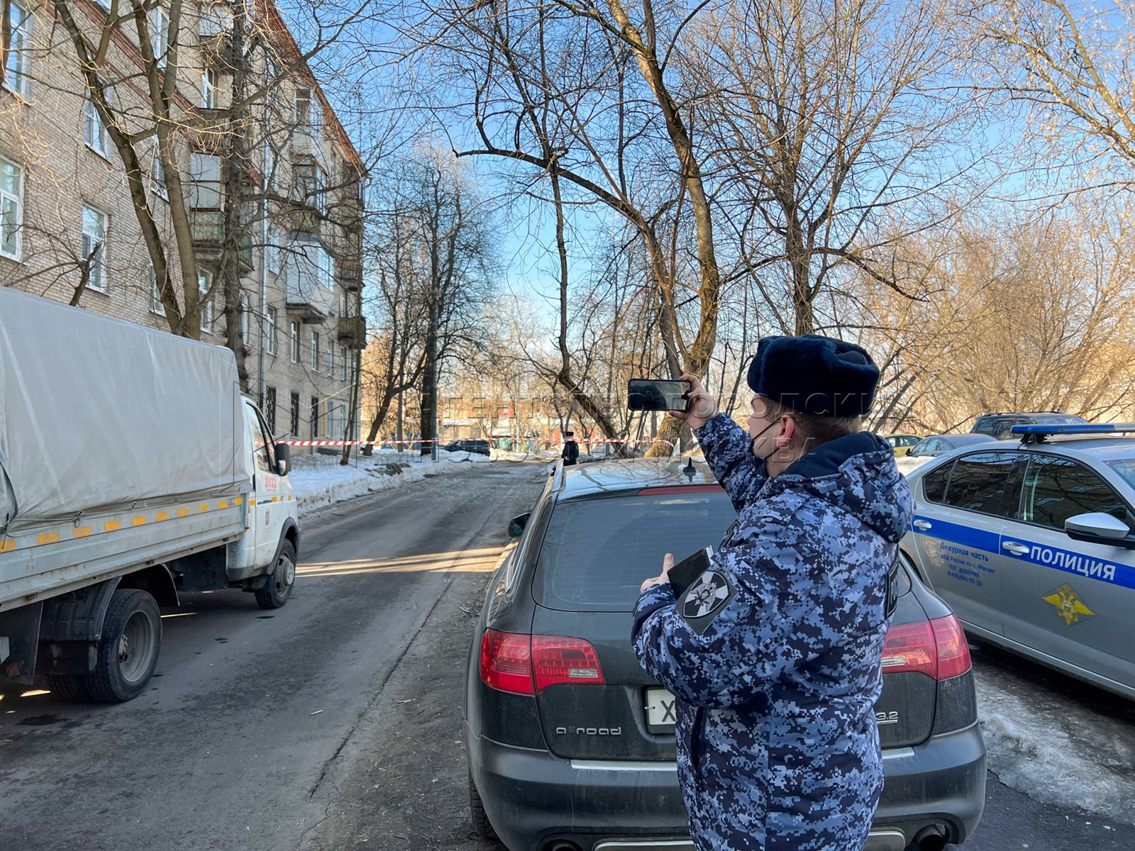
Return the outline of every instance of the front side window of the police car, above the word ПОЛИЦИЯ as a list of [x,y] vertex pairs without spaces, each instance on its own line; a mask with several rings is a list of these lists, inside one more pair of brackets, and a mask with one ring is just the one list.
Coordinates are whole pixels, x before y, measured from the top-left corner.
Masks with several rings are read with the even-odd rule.
[[1052,529],[1077,514],[1102,512],[1126,520],[1127,506],[1098,473],[1069,458],[1034,455],[1028,460],[1019,519]]

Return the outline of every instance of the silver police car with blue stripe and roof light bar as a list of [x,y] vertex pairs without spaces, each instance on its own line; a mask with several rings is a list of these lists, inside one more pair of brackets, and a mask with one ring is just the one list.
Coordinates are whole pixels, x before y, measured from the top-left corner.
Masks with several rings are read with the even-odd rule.
[[1014,426],[908,480],[903,557],[966,631],[1135,697],[1135,424]]

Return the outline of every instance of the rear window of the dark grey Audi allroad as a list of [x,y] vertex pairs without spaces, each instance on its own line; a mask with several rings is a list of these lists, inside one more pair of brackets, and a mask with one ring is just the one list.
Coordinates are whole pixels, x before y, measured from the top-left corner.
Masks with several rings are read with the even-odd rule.
[[631,612],[642,580],[662,559],[715,550],[737,520],[722,490],[572,499],[557,503],[532,585],[536,601],[568,612]]

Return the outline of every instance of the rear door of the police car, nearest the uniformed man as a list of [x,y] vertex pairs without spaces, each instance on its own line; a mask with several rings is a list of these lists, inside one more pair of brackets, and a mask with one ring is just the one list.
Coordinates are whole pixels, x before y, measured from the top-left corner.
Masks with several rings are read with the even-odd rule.
[[964,622],[1000,634],[1000,537],[1012,452],[962,455],[922,478],[911,524],[931,585]]

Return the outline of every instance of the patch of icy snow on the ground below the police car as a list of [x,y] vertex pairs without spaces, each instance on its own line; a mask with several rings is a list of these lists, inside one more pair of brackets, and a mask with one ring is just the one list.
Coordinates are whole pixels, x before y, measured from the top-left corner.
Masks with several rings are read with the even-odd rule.
[[1041,803],[1135,823],[1135,742],[1115,719],[1037,700],[1035,686],[1011,679],[975,682],[989,767],[1002,783]]

